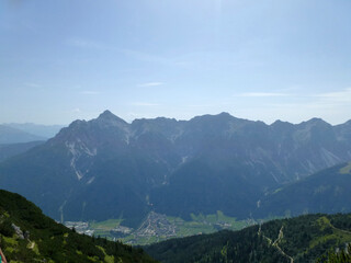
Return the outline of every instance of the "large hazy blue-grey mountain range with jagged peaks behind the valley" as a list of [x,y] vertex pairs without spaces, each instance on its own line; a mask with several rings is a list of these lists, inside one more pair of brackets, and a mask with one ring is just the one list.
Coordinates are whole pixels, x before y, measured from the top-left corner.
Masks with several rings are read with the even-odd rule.
[[151,210],[241,220],[272,188],[349,161],[350,148],[351,122],[265,125],[222,113],[128,124],[106,111],[0,163],[0,185],[57,220],[122,218],[135,228]]

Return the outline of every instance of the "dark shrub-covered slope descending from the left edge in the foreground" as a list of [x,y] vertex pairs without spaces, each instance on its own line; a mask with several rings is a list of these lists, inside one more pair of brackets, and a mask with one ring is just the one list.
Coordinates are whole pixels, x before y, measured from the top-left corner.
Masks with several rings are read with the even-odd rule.
[[0,239],[8,262],[156,262],[141,249],[78,235],[24,197],[2,190]]

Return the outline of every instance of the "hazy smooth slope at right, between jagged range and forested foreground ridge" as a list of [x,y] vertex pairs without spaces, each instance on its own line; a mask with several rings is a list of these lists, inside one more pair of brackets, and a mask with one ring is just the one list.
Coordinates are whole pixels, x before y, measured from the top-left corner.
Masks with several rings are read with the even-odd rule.
[[351,162],[339,164],[273,191],[261,199],[254,216],[348,213],[351,210],[350,186]]

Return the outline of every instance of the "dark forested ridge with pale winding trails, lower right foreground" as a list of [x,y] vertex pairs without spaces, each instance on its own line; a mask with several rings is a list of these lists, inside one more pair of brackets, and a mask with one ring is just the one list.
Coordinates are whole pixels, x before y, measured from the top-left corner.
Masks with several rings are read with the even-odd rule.
[[[165,263],[315,262],[351,242],[351,215],[307,215],[146,247]],[[293,261],[292,261],[293,260]],[[331,261],[332,262],[332,261]]]

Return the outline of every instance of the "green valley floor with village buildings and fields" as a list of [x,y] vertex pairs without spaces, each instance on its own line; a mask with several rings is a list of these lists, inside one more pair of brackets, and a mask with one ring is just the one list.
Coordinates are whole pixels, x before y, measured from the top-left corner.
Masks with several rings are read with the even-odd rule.
[[106,237],[110,240],[120,240],[128,244],[145,245],[171,238],[212,233],[224,229],[240,230],[258,224],[253,219],[236,220],[225,216],[222,211],[206,216],[192,214],[191,218],[192,220],[186,221],[182,218],[151,211],[136,229],[122,226],[123,220],[121,219],[102,222],[66,221],[65,226],[88,236]]

